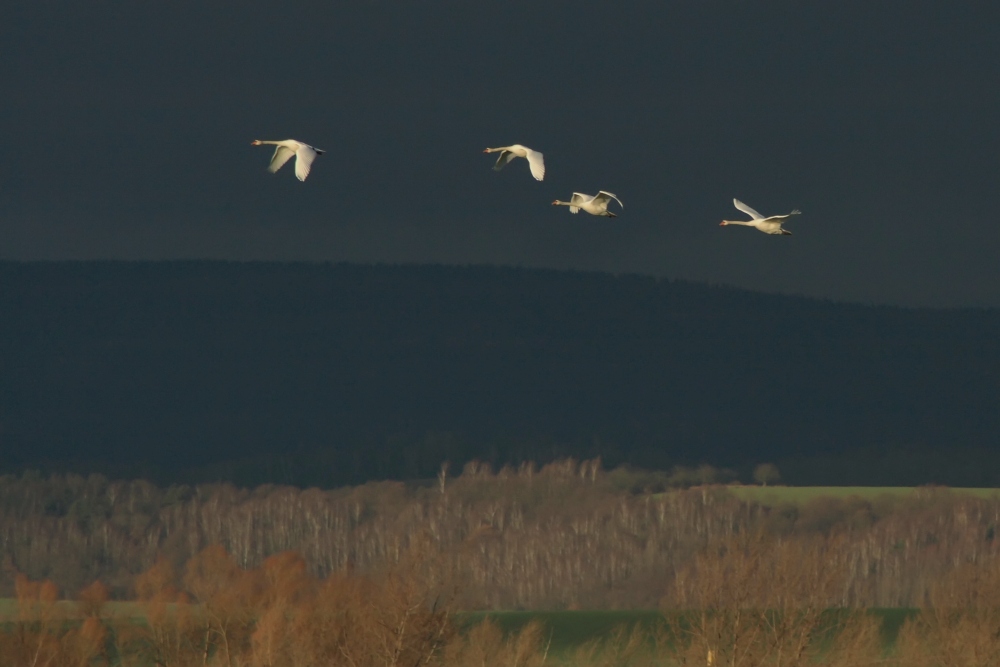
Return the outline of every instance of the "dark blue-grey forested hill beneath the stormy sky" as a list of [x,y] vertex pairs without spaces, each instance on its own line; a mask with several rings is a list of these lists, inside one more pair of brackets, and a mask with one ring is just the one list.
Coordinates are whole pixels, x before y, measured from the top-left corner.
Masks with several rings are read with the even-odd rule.
[[891,459],[873,481],[995,483],[956,464],[994,456],[998,389],[996,310],[513,268],[0,263],[7,470],[334,484],[474,457],[826,457],[847,466],[826,481]]

